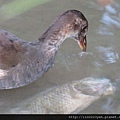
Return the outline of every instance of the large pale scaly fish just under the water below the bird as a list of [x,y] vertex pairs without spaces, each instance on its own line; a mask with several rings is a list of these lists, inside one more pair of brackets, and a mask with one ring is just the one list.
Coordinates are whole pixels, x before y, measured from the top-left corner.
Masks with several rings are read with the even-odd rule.
[[32,99],[27,110],[31,114],[78,113],[101,96],[115,92],[109,79],[84,78],[50,88]]

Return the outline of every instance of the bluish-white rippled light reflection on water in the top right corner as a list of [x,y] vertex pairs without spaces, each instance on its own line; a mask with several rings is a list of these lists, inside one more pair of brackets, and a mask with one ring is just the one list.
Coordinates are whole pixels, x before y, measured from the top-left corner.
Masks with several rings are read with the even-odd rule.
[[98,33],[102,35],[113,35],[113,31],[116,28],[120,28],[120,5],[116,2],[106,5],[100,22],[102,25],[100,25]]

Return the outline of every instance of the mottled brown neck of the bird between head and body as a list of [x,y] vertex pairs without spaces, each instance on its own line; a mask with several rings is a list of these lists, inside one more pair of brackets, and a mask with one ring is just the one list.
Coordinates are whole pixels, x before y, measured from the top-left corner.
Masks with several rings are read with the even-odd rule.
[[58,49],[63,41],[68,37],[69,35],[67,34],[65,27],[50,26],[48,30],[39,38],[39,41],[49,47]]

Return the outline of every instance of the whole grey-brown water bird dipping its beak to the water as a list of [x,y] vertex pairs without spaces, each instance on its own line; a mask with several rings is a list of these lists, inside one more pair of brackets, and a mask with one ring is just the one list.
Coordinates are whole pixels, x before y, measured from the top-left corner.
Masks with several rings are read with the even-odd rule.
[[86,51],[88,21],[79,10],[58,15],[34,42],[0,29],[0,90],[23,87],[40,78],[52,66],[60,45],[67,38]]

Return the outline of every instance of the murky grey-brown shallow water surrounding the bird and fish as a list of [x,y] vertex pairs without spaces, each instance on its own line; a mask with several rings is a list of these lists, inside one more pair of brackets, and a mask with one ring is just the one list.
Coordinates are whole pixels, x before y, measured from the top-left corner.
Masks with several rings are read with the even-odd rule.
[[[10,0],[1,0],[2,5]],[[97,0],[53,0],[11,19],[0,21],[0,29],[35,41],[51,22],[68,9],[80,10],[88,19],[87,52],[67,39],[60,47],[54,66],[34,83],[25,87],[0,91],[0,113],[25,113],[24,106],[40,92],[86,77],[109,78],[117,91],[103,97],[80,113],[120,113],[120,1],[101,6]]]

